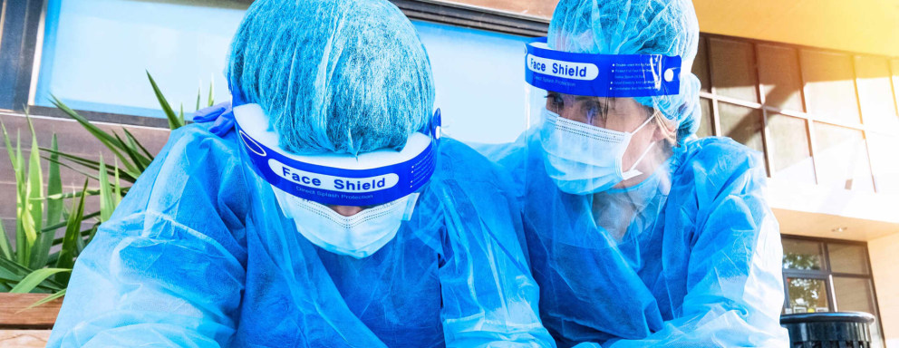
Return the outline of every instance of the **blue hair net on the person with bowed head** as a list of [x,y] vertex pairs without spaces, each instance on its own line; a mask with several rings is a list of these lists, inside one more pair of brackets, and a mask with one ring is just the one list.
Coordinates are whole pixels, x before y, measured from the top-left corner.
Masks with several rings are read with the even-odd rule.
[[256,1],[227,73],[296,153],[400,149],[433,111],[427,53],[387,0]]

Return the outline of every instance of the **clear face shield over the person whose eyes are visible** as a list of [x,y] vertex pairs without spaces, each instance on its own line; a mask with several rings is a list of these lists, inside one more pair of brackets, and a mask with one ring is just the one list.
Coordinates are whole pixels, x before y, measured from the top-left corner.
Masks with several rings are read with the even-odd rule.
[[653,148],[677,125],[657,102],[679,93],[681,57],[567,53],[542,38],[527,44],[526,64],[528,123],[559,189],[601,192],[664,160]]

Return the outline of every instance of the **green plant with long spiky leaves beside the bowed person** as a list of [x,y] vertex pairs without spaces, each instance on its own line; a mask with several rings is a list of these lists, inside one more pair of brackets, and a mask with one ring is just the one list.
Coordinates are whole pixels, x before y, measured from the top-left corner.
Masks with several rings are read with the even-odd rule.
[[[176,130],[184,126],[186,121],[183,105],[176,113],[150,73],[147,73],[147,78],[169,121],[169,129]],[[197,94],[197,110],[201,106],[201,96],[200,89]],[[15,246],[10,243],[0,224],[0,292],[51,294],[33,305],[65,295],[75,259],[91,241],[100,224],[109,220],[121,198],[130,189],[121,186],[121,181],[133,183],[154,157],[130,131],[122,129],[123,136],[115,131],[103,131],[55,96],[52,102],[111,150],[117,164],[109,167],[102,157],[100,160],[88,160],[59,150],[55,134],[49,148],[39,147],[27,112],[32,143],[26,159],[22,154],[20,137],[16,137],[13,148],[5,125],[0,124],[16,182]],[[207,104],[212,106],[213,103],[210,82]],[[49,163],[45,194],[42,158]],[[84,175],[80,191],[63,193],[61,166]],[[111,177],[114,179],[110,180]],[[89,180],[97,181],[98,189],[88,189]],[[100,210],[85,213],[85,198],[93,195],[100,196]],[[65,208],[63,204],[67,199],[71,201],[69,208]],[[84,228],[84,225],[89,227]],[[55,238],[60,229],[64,229],[63,237]],[[51,252],[57,248],[58,251]]]

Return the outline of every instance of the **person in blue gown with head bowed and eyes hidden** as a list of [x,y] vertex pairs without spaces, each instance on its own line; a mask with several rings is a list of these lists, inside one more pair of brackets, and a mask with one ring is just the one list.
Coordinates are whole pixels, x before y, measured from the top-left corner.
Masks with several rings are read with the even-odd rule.
[[[399,9],[257,0],[227,73],[233,109],[172,131],[78,256],[49,347],[555,346],[510,178],[440,139],[430,63]],[[253,157],[339,173],[413,139],[430,179],[382,204],[295,197]]]

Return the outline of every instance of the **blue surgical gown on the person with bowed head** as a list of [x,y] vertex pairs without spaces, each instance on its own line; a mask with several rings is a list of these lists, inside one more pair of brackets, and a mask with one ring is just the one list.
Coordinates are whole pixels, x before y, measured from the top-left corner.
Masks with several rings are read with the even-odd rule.
[[173,131],[102,224],[49,347],[554,346],[520,209],[474,150],[441,140],[411,220],[356,259],[297,233],[235,132],[211,127]]

